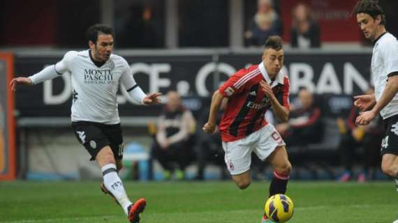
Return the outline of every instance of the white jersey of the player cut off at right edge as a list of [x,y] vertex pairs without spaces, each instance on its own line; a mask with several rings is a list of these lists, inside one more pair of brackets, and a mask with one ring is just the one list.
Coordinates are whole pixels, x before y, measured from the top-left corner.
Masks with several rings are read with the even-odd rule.
[[[371,73],[374,79],[374,95],[380,100],[388,75],[398,72],[398,40],[390,33],[383,34],[373,48]],[[398,114],[398,94],[380,112],[383,119]]]

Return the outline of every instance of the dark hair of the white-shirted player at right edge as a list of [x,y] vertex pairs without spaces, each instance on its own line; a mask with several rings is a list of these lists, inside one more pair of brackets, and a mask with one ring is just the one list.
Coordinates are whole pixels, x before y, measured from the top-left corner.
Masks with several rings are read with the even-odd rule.
[[381,21],[380,24],[385,24],[385,15],[383,8],[378,4],[376,0],[360,0],[357,2],[353,9],[353,14],[358,15],[360,13],[365,13],[370,15],[376,20],[376,17],[380,15]]

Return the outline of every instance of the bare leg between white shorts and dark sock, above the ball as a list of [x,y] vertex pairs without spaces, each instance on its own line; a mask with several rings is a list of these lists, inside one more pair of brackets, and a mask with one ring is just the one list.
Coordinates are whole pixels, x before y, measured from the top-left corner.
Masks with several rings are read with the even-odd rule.
[[[268,157],[268,162],[277,173],[290,173],[291,164],[285,146],[278,146]],[[286,174],[288,174],[286,173]]]

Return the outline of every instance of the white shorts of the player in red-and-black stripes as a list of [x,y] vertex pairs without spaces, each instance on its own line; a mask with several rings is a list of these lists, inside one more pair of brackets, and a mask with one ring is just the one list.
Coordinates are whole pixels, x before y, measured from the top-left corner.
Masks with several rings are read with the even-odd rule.
[[227,168],[231,175],[243,174],[250,169],[251,152],[264,161],[277,146],[285,145],[274,125],[268,123],[243,139],[223,141]]

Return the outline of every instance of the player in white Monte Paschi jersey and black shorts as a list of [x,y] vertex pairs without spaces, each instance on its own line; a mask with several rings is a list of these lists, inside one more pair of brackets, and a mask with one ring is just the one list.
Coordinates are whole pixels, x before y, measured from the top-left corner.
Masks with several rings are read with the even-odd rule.
[[123,137],[117,91],[119,84],[123,84],[131,98],[142,105],[158,104],[161,94],[145,95],[135,83],[126,60],[112,54],[114,40],[110,27],[95,24],[89,27],[86,36],[88,50],[67,52],[58,63],[47,66],[36,75],[14,78],[10,86],[15,91],[17,84],[38,84],[60,77],[64,72],[71,73],[71,119],[75,135],[90,153],[91,160],[96,160],[101,167],[101,190],[117,200],[130,222],[139,222],[146,201],[138,199],[131,202],[118,175],[123,155]]

